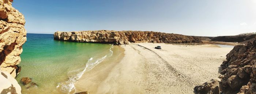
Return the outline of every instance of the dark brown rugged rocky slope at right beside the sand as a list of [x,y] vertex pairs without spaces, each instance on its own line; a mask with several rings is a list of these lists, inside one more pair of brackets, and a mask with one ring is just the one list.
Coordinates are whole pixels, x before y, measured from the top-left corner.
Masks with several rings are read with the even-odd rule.
[[219,77],[221,81],[215,81],[218,84],[214,86],[209,82],[196,86],[195,91],[199,94],[210,93],[213,87],[219,85],[219,90],[224,94],[256,94],[256,40],[234,46],[227,54],[226,61],[223,61],[221,69],[220,73],[223,74]]

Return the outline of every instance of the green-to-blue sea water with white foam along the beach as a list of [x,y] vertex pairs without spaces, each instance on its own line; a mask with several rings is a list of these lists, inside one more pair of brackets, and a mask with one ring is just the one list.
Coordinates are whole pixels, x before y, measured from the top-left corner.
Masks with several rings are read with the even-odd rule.
[[[84,72],[112,56],[112,49],[109,44],[53,40],[53,34],[27,34],[16,79],[23,94],[68,94]],[[38,86],[23,85],[22,77]]]

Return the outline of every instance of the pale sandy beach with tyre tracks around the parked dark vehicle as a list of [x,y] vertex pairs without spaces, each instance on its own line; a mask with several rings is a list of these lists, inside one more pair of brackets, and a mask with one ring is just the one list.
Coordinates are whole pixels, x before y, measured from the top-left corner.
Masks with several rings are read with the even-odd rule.
[[[162,49],[154,49],[155,46]],[[218,68],[233,48],[217,45],[133,43],[115,46],[113,60],[103,61],[75,83],[76,93],[192,94],[220,74]]]

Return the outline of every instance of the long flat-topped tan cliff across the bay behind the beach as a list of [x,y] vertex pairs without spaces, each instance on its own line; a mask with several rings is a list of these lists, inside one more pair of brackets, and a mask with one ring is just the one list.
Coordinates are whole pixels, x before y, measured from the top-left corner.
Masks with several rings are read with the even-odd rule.
[[194,36],[185,36],[173,33],[149,32],[149,31],[79,31],[79,32],[55,32],[55,40],[74,42],[93,42],[107,44],[130,44],[130,42],[153,43],[201,43]]

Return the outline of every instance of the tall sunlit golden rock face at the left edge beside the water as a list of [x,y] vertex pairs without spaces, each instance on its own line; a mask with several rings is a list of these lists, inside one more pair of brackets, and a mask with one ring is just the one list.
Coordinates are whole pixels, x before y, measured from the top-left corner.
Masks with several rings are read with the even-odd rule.
[[[0,70],[2,71],[0,82],[16,83],[13,79],[10,80],[10,77],[7,78],[6,73],[14,78],[20,71],[17,65],[20,63],[22,45],[26,42],[26,30],[24,16],[12,7],[12,1],[0,0]],[[10,84],[9,91],[14,94],[20,93],[20,86],[17,85]],[[1,87],[0,90],[3,91],[3,88]]]

